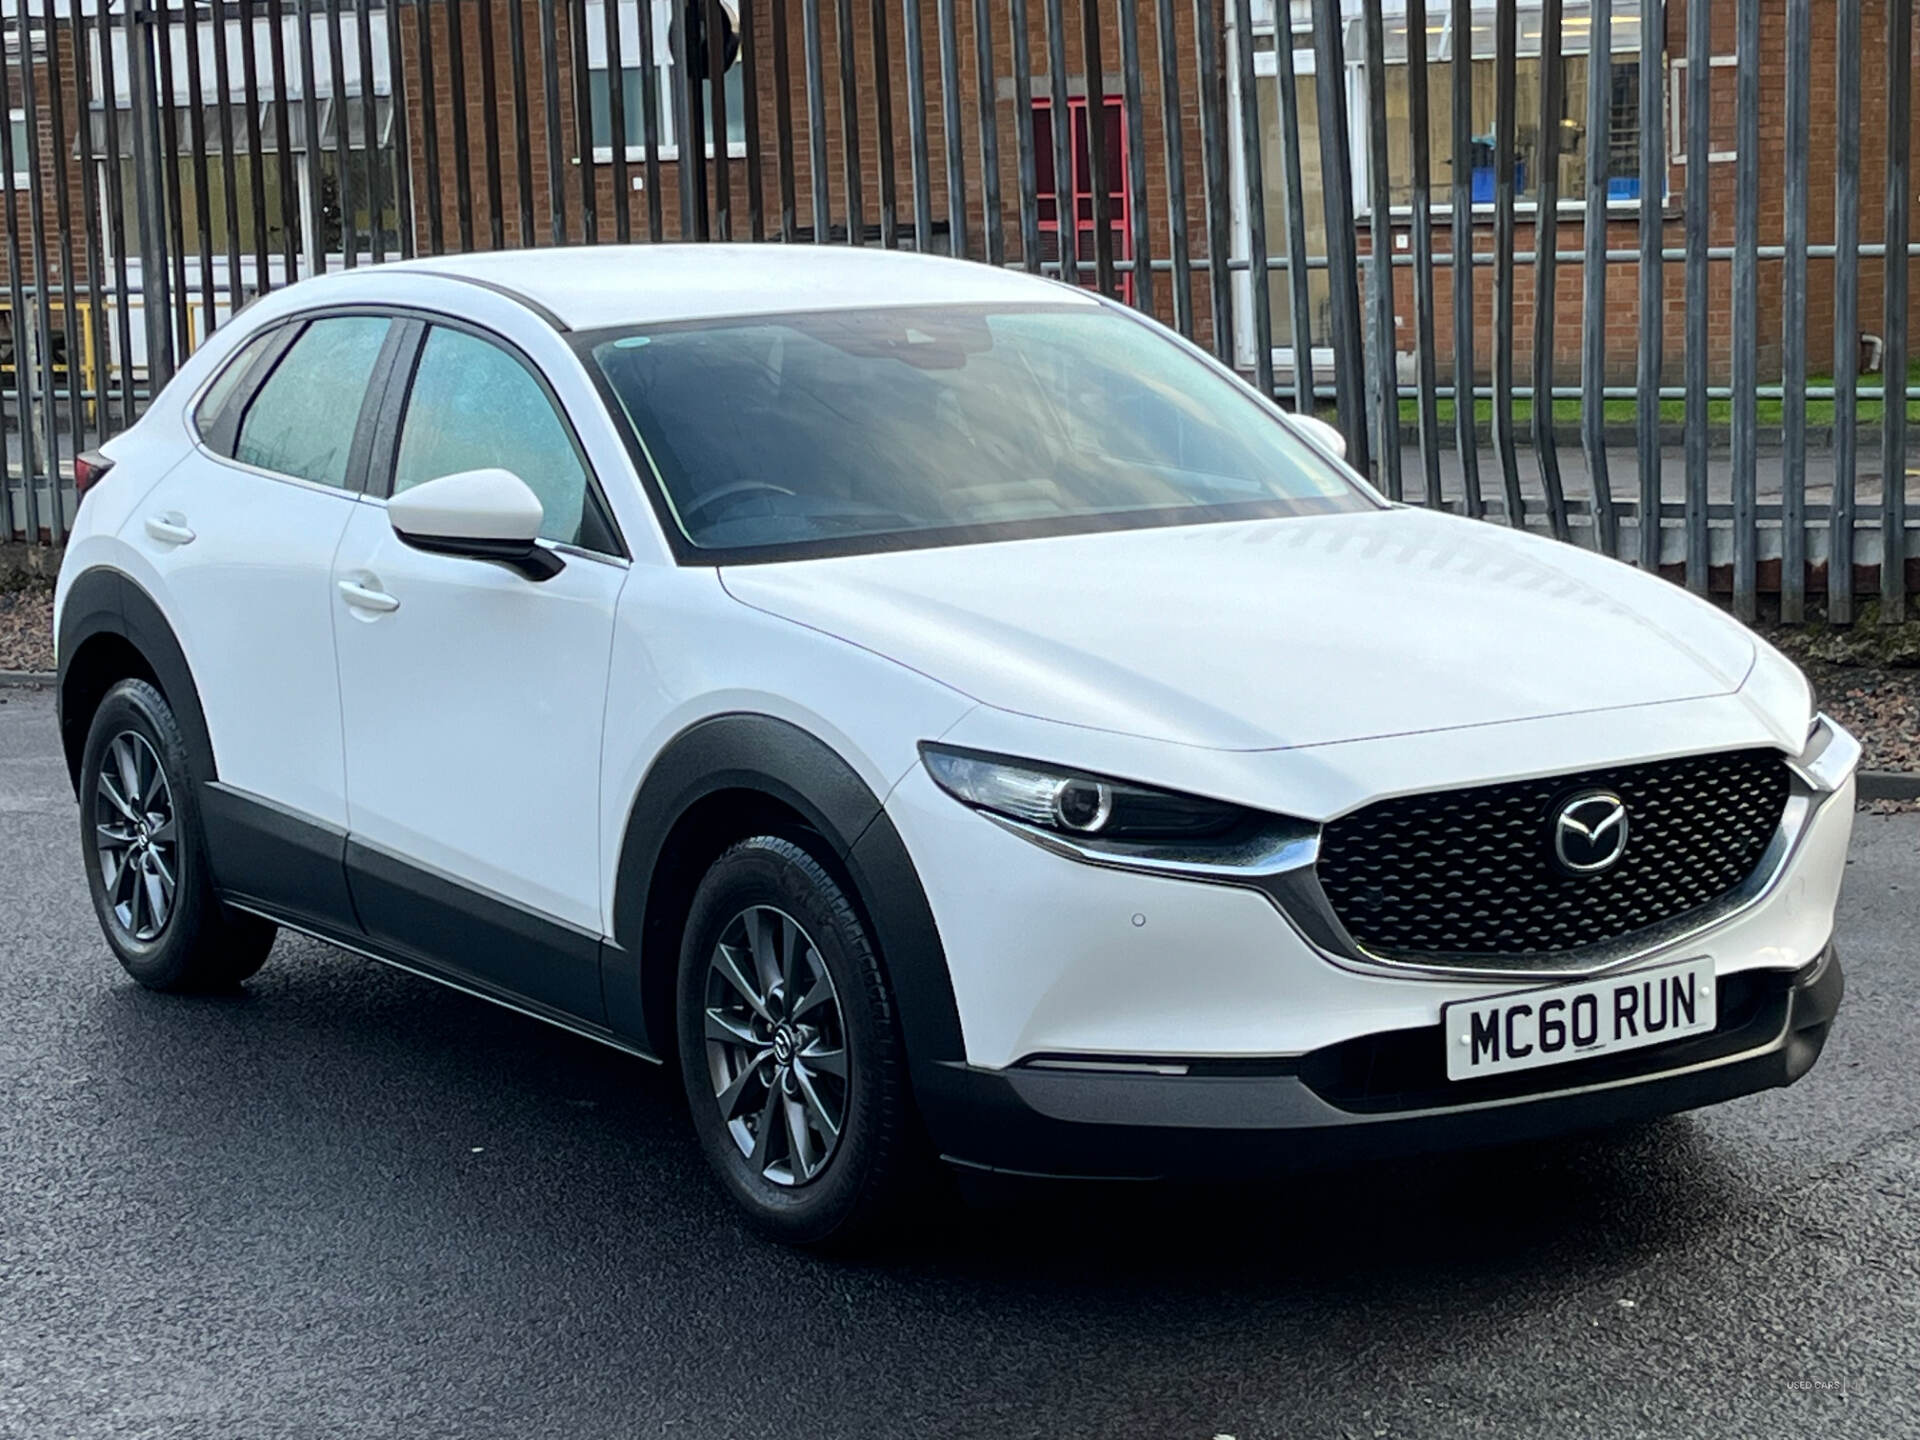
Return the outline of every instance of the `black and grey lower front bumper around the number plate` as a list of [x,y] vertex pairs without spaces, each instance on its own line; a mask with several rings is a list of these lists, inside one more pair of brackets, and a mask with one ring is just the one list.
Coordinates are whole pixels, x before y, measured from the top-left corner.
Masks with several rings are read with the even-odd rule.
[[916,1083],[941,1154],[977,1169],[1225,1177],[1530,1140],[1665,1116],[1805,1075],[1845,981],[1826,947],[1797,972],[1720,977],[1709,1033],[1551,1069],[1448,1085],[1438,1025],[1286,1062],[1187,1073],[935,1066]]

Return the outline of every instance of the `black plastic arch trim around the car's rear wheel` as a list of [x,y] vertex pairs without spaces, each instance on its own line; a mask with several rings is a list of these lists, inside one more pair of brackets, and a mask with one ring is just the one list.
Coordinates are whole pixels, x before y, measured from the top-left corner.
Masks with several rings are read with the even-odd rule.
[[204,785],[215,780],[219,772],[200,689],[167,616],[121,570],[88,570],[69,588],[60,614],[60,743],[75,789],[94,710],[121,680],[146,680],[165,697],[186,745],[192,781]]

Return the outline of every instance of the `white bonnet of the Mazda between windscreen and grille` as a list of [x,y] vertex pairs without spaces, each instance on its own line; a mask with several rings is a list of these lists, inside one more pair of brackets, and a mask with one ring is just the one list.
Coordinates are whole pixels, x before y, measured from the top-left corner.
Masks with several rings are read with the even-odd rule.
[[1588,551],[1415,509],[722,570],[1004,710],[1281,749],[1724,695],[1753,637]]

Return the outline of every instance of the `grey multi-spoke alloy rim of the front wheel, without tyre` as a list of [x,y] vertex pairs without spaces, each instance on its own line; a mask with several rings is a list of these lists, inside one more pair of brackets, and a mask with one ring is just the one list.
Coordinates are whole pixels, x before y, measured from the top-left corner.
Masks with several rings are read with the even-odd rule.
[[707,964],[707,1071],[720,1119],[774,1185],[820,1175],[847,1125],[847,1029],[812,937],[772,906],[741,910]]

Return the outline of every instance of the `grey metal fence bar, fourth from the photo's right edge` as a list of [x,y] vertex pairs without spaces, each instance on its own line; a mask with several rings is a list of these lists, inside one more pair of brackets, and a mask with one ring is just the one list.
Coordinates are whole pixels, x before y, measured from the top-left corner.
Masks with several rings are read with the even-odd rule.
[[1734,148],[1734,614],[1755,618],[1761,342],[1761,0],[1736,10]]

